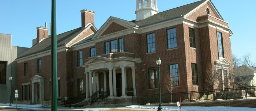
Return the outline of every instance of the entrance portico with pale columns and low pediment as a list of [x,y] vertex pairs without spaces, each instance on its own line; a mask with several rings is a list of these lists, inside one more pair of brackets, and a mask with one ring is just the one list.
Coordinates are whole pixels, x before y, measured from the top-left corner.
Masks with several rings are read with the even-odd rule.
[[[118,57],[118,58],[106,58],[106,57],[93,57],[91,60],[86,62],[83,67],[85,68],[86,76],[86,98],[88,99],[95,89],[99,91],[99,75],[103,74],[104,92],[109,92],[109,97],[117,97],[117,73],[121,74],[121,97],[126,97],[125,88],[127,88],[127,77],[132,77],[132,88],[133,95],[136,95],[135,88],[135,63],[140,63],[140,58],[130,58],[130,57]],[[131,68],[132,73],[126,73],[126,70]],[[109,73],[109,84],[107,84],[106,74]],[[93,80],[92,80],[93,74]],[[97,76],[96,76],[97,75]],[[95,82],[97,80],[97,82]],[[118,80],[120,81],[120,80]],[[93,85],[92,85],[93,84]],[[97,84],[97,86],[96,86]],[[109,85],[109,91],[107,86]],[[92,88],[93,87],[93,88]],[[101,86],[103,87],[103,86]],[[119,93],[119,92],[118,92]]]

